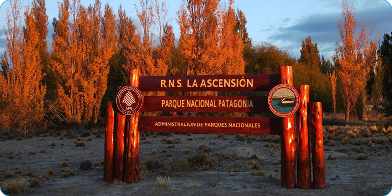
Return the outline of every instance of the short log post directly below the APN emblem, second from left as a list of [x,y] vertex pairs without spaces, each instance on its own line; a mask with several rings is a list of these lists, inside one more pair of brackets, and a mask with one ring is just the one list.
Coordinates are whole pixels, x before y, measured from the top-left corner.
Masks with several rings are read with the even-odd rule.
[[114,113],[115,146],[114,146],[114,178],[123,181],[124,178],[124,129],[125,115],[120,114],[117,107]]

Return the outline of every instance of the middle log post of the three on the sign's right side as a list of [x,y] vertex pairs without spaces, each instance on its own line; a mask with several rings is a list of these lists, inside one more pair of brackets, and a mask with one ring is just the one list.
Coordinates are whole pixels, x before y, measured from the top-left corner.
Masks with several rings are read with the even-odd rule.
[[297,121],[297,176],[299,189],[312,187],[310,159],[309,159],[309,132],[308,132],[308,103],[309,85],[297,85],[299,92],[299,108]]

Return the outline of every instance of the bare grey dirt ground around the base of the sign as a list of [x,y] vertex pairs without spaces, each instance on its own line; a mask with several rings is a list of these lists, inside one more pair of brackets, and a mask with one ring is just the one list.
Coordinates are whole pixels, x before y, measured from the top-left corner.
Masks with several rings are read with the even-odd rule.
[[[366,130],[358,128],[366,133]],[[332,131],[328,132],[328,129]],[[142,176],[144,178],[138,184],[128,185],[103,182],[103,135],[101,138],[92,135],[92,141],[81,137],[86,143],[85,147],[75,147],[73,139],[60,136],[5,140],[1,142],[1,187],[12,179],[31,178],[23,173],[32,171],[42,185],[29,188],[26,195],[388,194],[391,190],[390,133],[388,136],[352,136],[352,143],[342,144],[345,143],[343,136],[330,134],[333,129],[326,127],[324,133],[325,190],[280,187],[279,136],[174,133],[168,136],[151,133],[145,137],[141,134],[140,165],[142,173],[144,170],[147,175]],[[378,138],[382,139],[377,141]],[[206,146],[204,151],[208,156],[204,154],[202,157],[207,157],[207,160],[196,163],[195,157],[203,154],[201,144]],[[43,149],[45,153],[42,153]],[[364,160],[358,159],[360,154],[364,155]],[[187,162],[184,166],[185,159]],[[79,169],[82,160],[89,160],[92,168],[88,171]],[[68,166],[60,166],[64,161]],[[42,178],[49,167],[54,169],[54,175],[50,179]],[[75,175],[64,176],[64,170],[68,169],[76,169]],[[4,178],[7,170],[14,172],[13,178]],[[17,170],[22,173],[16,174]],[[157,176],[170,176],[171,185],[158,186]]]

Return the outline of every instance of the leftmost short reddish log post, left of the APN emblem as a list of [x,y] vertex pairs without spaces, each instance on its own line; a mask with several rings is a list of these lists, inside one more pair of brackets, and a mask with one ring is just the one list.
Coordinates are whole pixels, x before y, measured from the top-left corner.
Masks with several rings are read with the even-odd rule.
[[106,112],[106,133],[105,133],[105,163],[103,169],[103,181],[113,181],[113,162],[114,162],[114,111],[112,102],[107,103]]

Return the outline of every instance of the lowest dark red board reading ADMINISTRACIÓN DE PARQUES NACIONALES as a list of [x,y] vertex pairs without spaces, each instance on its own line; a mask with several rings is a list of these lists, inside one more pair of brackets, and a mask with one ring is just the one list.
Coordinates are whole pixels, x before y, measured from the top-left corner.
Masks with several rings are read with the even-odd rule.
[[279,135],[276,117],[139,116],[140,131]]

